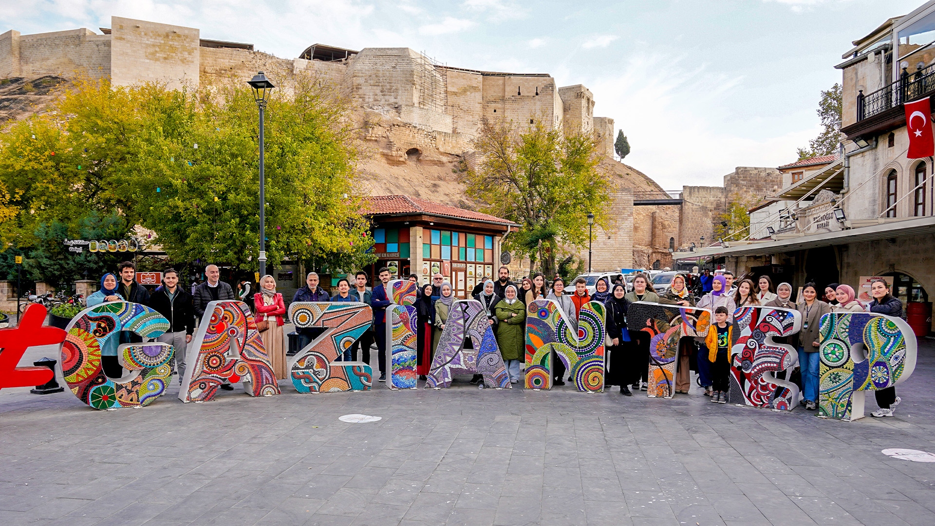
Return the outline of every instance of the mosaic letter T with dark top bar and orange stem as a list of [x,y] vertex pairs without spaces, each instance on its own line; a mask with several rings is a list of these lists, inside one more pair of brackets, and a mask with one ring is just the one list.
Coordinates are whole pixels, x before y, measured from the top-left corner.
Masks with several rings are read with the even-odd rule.
[[679,340],[683,336],[705,336],[711,327],[712,314],[707,309],[680,307],[651,301],[637,301],[626,312],[630,330],[650,334],[650,398],[672,398],[675,373],[679,364]]

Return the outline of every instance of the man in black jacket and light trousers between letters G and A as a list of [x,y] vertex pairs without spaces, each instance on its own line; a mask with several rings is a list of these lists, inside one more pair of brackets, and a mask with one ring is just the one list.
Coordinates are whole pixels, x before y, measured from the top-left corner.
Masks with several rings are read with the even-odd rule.
[[192,295],[179,286],[179,272],[175,269],[163,272],[163,286],[150,296],[150,307],[169,320],[169,329],[156,340],[175,347],[176,371],[181,384],[187,343],[192,341],[194,332],[194,307]]

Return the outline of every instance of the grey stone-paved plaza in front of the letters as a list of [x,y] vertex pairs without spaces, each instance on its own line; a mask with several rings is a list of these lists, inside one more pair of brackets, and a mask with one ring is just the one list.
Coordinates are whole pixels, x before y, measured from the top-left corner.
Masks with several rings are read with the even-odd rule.
[[[201,404],[174,386],[117,411],[3,389],[0,524],[930,526],[935,463],[881,453],[935,452],[935,345],[921,346],[897,416],[851,423],[697,388],[667,401],[467,377],[322,395],[283,381],[278,397]],[[338,420],[354,413],[382,419]]]

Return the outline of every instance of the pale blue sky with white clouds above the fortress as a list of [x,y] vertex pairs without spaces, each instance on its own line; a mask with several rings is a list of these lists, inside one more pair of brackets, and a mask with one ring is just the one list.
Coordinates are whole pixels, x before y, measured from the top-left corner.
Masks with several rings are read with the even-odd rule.
[[293,58],[320,42],[410,47],[450,66],[584,84],[667,189],[796,159],[820,131],[841,53],[922,0],[0,0],[0,33],[109,27],[111,16],[197,27]]

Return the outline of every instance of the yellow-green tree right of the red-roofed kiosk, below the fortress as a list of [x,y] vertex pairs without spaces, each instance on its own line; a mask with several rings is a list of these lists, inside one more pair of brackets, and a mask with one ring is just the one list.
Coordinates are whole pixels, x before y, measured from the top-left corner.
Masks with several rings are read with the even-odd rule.
[[518,132],[502,120],[482,120],[474,147],[481,161],[463,176],[468,196],[483,203],[484,212],[520,225],[507,238],[516,256],[528,256],[535,267],[552,276],[559,248],[587,242],[587,212],[607,227],[610,182],[597,168],[597,139],[591,135],[563,137],[541,122]]

